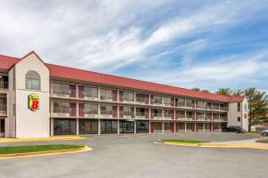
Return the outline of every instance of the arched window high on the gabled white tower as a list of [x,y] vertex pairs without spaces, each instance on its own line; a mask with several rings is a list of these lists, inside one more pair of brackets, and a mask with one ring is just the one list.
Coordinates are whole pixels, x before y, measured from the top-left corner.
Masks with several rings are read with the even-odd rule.
[[38,72],[30,70],[25,76],[26,89],[40,90],[40,76]]

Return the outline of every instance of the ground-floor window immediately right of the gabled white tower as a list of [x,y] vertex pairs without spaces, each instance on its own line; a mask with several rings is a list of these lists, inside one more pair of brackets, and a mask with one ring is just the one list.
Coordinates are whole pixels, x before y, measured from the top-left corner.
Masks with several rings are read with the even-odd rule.
[[54,118],[54,135],[76,134],[76,120]]

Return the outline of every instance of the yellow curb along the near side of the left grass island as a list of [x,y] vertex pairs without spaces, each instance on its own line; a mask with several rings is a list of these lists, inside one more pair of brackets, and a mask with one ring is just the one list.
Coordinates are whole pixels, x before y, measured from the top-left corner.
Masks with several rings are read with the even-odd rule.
[[79,149],[69,149],[69,150],[47,150],[47,151],[37,151],[37,152],[29,152],[29,153],[15,153],[15,154],[6,154],[0,155],[0,160],[3,159],[11,159],[11,158],[29,158],[29,157],[42,157],[49,155],[61,155],[61,154],[71,154],[71,153],[79,153],[93,150],[88,146],[79,148]]

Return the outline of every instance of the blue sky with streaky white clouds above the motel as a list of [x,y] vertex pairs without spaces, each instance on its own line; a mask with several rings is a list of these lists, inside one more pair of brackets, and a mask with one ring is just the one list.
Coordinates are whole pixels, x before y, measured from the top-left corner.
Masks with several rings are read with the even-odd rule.
[[268,93],[268,0],[0,0],[0,53],[211,92]]

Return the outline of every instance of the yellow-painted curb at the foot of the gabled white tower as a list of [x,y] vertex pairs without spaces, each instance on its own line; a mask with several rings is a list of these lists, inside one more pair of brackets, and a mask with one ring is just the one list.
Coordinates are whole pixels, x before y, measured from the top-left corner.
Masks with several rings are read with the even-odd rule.
[[85,137],[73,136],[73,137],[49,137],[42,139],[0,139],[0,142],[53,142],[53,141],[74,141],[83,140]]

